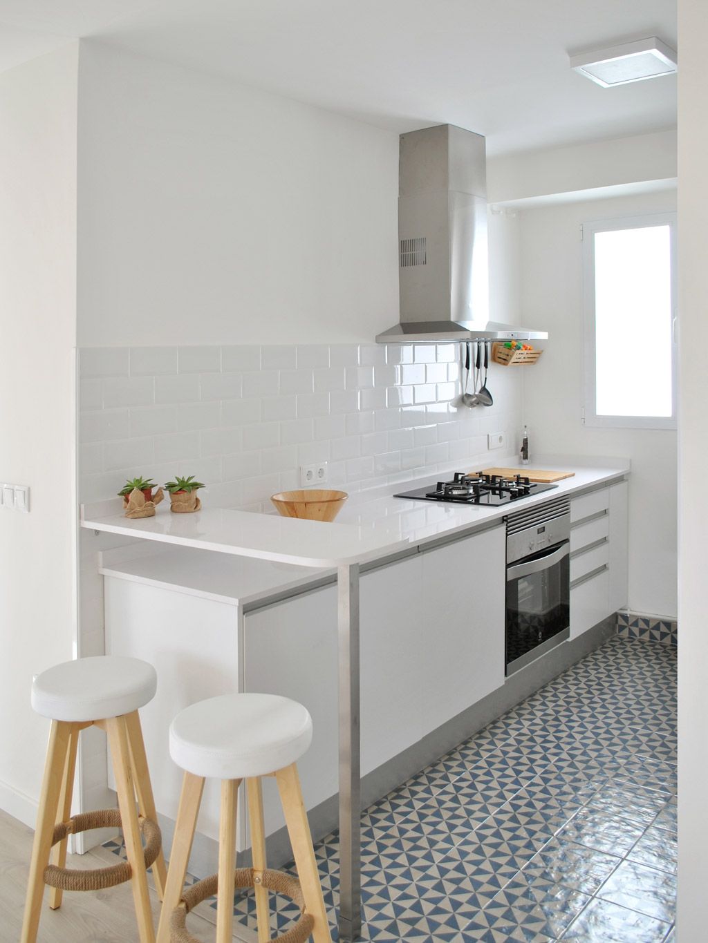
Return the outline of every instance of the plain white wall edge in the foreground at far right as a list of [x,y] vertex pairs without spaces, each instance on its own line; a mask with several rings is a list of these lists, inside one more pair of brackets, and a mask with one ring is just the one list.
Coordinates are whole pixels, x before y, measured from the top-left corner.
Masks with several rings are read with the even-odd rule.
[[679,453],[679,910],[681,943],[706,935],[705,875],[708,873],[708,633],[705,548],[708,502],[695,482],[708,458],[706,371],[708,344],[708,97],[705,49],[708,5],[679,0],[679,311],[681,404]]

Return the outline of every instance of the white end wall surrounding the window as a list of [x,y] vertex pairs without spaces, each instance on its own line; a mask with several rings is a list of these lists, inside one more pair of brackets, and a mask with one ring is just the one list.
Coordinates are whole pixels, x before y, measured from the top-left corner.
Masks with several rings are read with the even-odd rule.
[[632,459],[629,606],[666,618],[677,611],[676,432],[582,425],[580,225],[675,207],[669,191],[521,212],[523,321],[550,338],[539,344],[546,349],[538,364],[524,372],[531,449]]

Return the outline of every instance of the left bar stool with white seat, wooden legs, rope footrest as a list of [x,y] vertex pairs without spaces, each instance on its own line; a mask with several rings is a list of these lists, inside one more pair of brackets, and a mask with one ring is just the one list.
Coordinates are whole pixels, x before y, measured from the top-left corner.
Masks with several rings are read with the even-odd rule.
[[[21,943],[34,943],[44,885],[56,910],[64,890],[99,890],[132,882],[141,943],[154,943],[146,869],[152,867],[160,896],[166,869],[160,828],[145,758],[138,708],[155,696],[157,675],[137,658],[99,655],[42,671],[32,685],[32,707],[52,720],[42,795],[34,834]],[[109,739],[118,809],[71,816],[79,732],[96,726]],[[137,809],[136,809],[137,792]],[[92,828],[123,829],[127,863],[96,870],[66,869],[67,836]],[[145,839],[145,848],[141,841]],[[51,863],[50,863],[51,856]]]

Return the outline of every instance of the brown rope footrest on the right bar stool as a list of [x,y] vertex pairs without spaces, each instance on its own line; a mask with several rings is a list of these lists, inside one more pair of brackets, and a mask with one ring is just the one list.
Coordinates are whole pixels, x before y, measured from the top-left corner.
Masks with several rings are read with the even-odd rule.
[[[237,868],[234,871],[234,887],[253,887],[255,885],[255,872],[252,868]],[[275,936],[273,943],[305,943],[312,935],[314,918],[312,914],[305,913],[305,901],[300,889],[300,882],[289,874],[283,874],[282,871],[264,870],[261,874],[261,886],[276,894],[283,894],[289,897],[299,908],[300,917],[286,933],[281,936]],[[188,887],[182,892],[182,900],[177,904],[170,917],[170,943],[199,943],[197,938],[187,931],[187,914],[197,903],[206,901],[212,897],[218,890],[218,876],[212,874],[209,878],[198,881],[195,885]]]

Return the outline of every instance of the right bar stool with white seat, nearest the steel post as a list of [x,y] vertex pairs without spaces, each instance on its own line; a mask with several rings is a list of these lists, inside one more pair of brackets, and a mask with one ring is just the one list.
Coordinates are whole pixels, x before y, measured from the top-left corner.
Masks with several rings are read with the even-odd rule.
[[[302,802],[296,761],[312,742],[312,720],[302,704],[272,694],[225,694],[187,707],[170,727],[170,754],[185,770],[167,874],[158,943],[198,943],[186,928],[197,903],[217,893],[216,941],[231,943],[234,887],[255,887],[259,943],[270,940],[268,890],[300,907],[286,943],[331,943],[312,835]],[[299,882],[266,869],[261,777],[275,776],[295,855]],[[184,889],[204,781],[221,780],[218,874]],[[238,788],[246,781],[253,867],[236,869]]]

